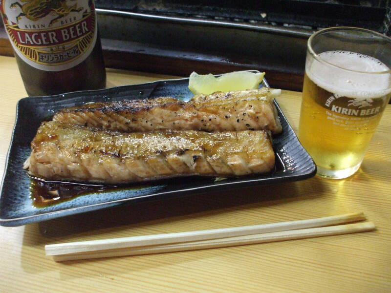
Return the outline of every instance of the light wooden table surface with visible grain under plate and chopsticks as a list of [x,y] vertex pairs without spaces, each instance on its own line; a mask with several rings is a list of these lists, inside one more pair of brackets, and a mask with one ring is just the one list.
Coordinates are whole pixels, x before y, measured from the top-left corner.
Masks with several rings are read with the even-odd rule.
[[[171,76],[108,69],[109,86]],[[267,77],[267,74],[266,74]],[[26,96],[15,60],[0,57],[0,174]],[[278,102],[297,129],[299,92]],[[129,205],[22,227],[0,227],[0,292],[391,291],[391,105],[360,170],[305,181]],[[363,211],[377,230],[231,248],[55,263],[44,245],[204,230]]]

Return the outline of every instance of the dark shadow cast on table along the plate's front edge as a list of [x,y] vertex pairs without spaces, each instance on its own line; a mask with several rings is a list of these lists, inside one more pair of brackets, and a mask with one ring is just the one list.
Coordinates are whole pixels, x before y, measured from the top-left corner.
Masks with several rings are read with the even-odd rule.
[[[223,213],[236,209],[249,209],[278,205],[287,201],[301,200],[322,193],[318,178],[315,190],[308,192],[304,181],[266,185],[258,188],[233,189],[224,192],[210,192],[185,197],[128,204],[111,209],[101,209],[84,214],[75,214],[39,223],[44,237],[61,237],[76,233],[91,235],[101,233],[101,229],[122,230],[124,225],[144,225],[144,222],[170,222],[188,217]],[[299,191],[301,190],[301,191]],[[173,218],[174,217],[174,218]],[[151,224],[151,223],[149,223]],[[47,240],[47,239],[46,239]]]

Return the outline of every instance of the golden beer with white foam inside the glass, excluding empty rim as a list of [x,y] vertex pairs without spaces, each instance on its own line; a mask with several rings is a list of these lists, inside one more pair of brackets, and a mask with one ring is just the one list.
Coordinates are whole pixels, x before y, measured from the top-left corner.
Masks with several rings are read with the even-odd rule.
[[391,74],[370,73],[390,69],[350,51],[327,51],[317,58],[307,56],[299,139],[320,175],[345,178],[360,167],[390,100]]

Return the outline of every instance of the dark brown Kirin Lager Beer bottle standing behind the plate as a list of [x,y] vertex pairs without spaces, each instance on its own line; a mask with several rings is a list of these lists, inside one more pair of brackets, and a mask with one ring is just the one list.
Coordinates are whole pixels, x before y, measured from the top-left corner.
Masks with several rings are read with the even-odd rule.
[[0,0],[29,96],[105,88],[93,0]]

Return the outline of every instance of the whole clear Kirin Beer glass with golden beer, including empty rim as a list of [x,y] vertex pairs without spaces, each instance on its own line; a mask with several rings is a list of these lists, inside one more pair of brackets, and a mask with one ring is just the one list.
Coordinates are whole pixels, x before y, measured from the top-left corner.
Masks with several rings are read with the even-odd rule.
[[354,27],[313,34],[307,45],[299,139],[318,175],[360,167],[391,96],[391,39]]

